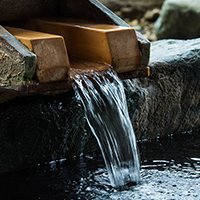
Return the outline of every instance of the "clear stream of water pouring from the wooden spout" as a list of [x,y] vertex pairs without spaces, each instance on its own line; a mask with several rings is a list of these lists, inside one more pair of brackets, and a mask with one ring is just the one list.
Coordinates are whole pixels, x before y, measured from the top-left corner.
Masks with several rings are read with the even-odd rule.
[[113,70],[77,75],[73,88],[80,97],[114,187],[140,181],[135,134],[122,82]]

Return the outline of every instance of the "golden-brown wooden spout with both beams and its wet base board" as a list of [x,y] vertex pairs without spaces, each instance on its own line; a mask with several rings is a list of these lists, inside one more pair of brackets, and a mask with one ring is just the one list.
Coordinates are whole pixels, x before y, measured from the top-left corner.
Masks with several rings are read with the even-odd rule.
[[136,32],[131,27],[58,17],[33,19],[23,26],[26,29],[4,27],[37,56],[32,84],[25,83],[16,92],[67,89],[71,76],[90,70],[113,68],[122,79],[149,75],[149,69],[142,68]]

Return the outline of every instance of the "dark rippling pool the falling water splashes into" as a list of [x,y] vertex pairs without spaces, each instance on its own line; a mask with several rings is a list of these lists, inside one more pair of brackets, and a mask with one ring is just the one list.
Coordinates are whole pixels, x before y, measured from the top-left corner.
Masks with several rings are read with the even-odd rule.
[[200,199],[200,133],[140,141],[141,183],[112,188],[100,152],[0,175],[0,200]]

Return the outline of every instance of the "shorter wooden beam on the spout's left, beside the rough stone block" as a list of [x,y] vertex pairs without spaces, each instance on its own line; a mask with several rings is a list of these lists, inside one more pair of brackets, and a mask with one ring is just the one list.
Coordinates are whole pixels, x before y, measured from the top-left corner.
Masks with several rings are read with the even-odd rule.
[[62,36],[5,27],[37,56],[36,79],[39,83],[69,79],[69,59]]

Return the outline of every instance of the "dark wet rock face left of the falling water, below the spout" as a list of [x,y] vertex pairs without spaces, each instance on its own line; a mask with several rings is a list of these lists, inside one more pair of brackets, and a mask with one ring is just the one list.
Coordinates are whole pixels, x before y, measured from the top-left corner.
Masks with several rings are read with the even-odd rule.
[[90,134],[86,126],[73,90],[0,104],[0,172],[79,155]]

